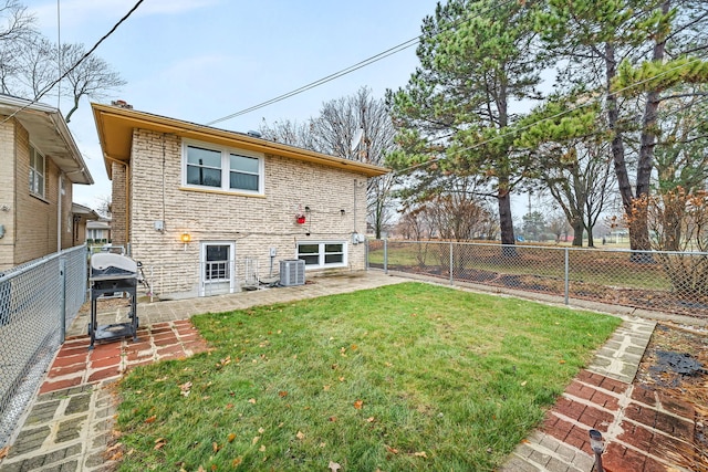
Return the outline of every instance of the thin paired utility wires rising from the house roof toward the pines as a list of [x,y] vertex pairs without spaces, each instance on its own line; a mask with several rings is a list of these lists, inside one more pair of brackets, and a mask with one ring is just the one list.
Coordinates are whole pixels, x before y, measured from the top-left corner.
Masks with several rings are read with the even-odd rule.
[[[516,0],[507,0],[507,1],[504,1],[502,3],[499,3],[499,4],[494,6],[494,7],[490,7],[485,13],[488,13],[488,12],[494,11],[497,9],[500,9],[501,7],[504,7],[508,3],[512,3],[513,1],[516,1]],[[479,13],[475,13],[475,14],[468,17],[468,18],[461,18],[458,21],[449,24],[447,28],[442,29],[441,31],[439,31],[436,34],[439,34],[439,33],[441,33],[444,31],[449,31],[452,28],[459,27],[460,24],[462,24],[462,23],[465,23],[467,21],[473,20],[475,18],[479,18],[481,14],[482,14],[482,12],[479,12]],[[227,116],[225,116],[222,118],[218,118],[218,119],[215,119],[212,122],[209,122],[206,125],[207,126],[216,125],[217,123],[226,122],[227,119],[231,119],[231,118],[236,118],[237,116],[246,115],[247,113],[254,112],[254,111],[263,108],[263,107],[266,107],[268,105],[272,105],[272,104],[281,102],[281,101],[285,99],[285,98],[290,98],[291,96],[299,95],[299,94],[301,94],[303,92],[306,92],[306,91],[309,91],[311,88],[314,88],[314,87],[317,87],[320,85],[323,85],[323,84],[325,84],[327,82],[331,82],[331,81],[333,81],[335,78],[340,78],[340,77],[342,77],[342,76],[344,76],[346,74],[350,74],[350,73],[352,73],[354,71],[357,71],[357,70],[360,70],[362,67],[365,67],[365,66],[371,65],[371,64],[373,64],[375,62],[378,62],[382,59],[386,59],[389,55],[396,54],[396,53],[398,53],[400,51],[404,51],[404,50],[406,50],[406,49],[408,49],[408,48],[410,48],[413,45],[416,45],[420,41],[421,38],[423,38],[423,34],[419,34],[419,35],[417,35],[415,38],[409,39],[408,41],[404,41],[400,44],[397,44],[397,45],[395,45],[393,48],[389,48],[386,51],[379,52],[378,54],[372,55],[371,57],[367,57],[367,59],[365,59],[365,60],[363,60],[361,62],[357,62],[354,65],[350,65],[348,67],[342,69],[341,71],[334,72],[334,73],[332,73],[332,74],[330,74],[330,75],[327,75],[325,77],[319,78],[319,80],[316,80],[314,82],[310,82],[309,84],[303,85],[303,86],[301,86],[299,88],[295,88],[295,90],[293,90],[291,92],[287,92],[287,93],[282,94],[282,95],[278,95],[274,98],[270,98],[270,99],[267,99],[266,102],[261,102],[258,105],[253,105],[253,106],[250,106],[248,108],[243,108],[243,109],[241,109],[239,112],[232,113],[232,114],[227,115]]]

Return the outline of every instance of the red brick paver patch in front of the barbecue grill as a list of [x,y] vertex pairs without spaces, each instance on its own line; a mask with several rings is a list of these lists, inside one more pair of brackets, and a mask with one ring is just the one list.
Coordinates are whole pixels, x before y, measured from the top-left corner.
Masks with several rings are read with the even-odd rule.
[[69,338],[59,350],[40,394],[119,377],[132,367],[177,359],[207,350],[205,340],[188,319],[138,328],[138,339],[96,343],[88,336]]

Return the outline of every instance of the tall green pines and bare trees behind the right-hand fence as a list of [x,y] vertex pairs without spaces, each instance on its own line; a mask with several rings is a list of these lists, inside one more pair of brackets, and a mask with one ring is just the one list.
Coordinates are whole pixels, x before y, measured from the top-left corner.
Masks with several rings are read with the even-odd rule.
[[392,167],[369,183],[377,238],[397,210],[406,237],[511,245],[511,195],[541,192],[556,240],[570,227],[592,247],[597,225],[626,225],[634,250],[679,249],[708,178],[707,35],[706,2],[449,0],[424,19],[404,87],[261,132]]

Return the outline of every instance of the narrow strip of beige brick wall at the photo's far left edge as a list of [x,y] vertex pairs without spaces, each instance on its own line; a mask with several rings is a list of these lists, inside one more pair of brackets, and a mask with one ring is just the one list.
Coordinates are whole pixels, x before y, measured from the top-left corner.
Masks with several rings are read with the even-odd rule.
[[[6,116],[0,115],[0,122]],[[0,124],[0,271],[14,265],[14,119]]]

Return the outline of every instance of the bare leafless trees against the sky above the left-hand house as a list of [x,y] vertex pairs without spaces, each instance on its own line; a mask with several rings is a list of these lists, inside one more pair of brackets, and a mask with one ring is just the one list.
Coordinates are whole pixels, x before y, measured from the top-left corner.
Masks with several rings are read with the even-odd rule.
[[66,97],[69,123],[83,97],[104,98],[125,85],[104,60],[85,54],[83,44],[59,45],[42,35],[37,19],[17,0],[0,0],[0,93],[25,99]]

